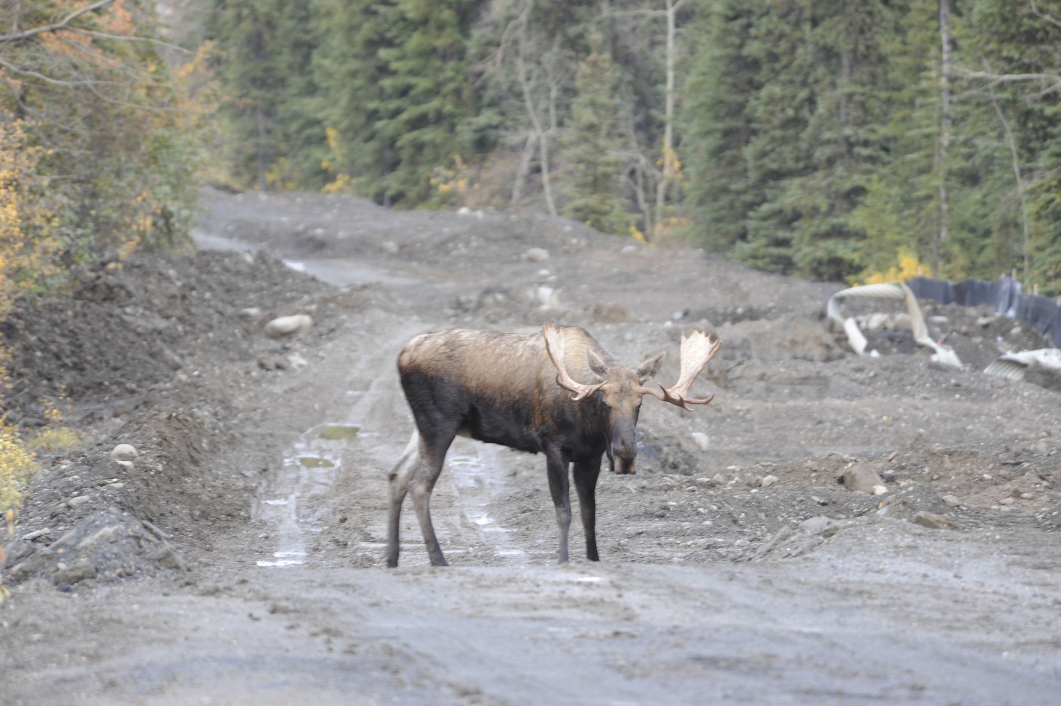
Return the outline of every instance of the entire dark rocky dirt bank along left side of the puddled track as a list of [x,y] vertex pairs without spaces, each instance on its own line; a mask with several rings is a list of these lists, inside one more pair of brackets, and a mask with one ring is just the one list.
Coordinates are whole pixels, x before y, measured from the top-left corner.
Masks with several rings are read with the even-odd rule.
[[[248,316],[251,307],[260,311]],[[62,586],[176,568],[171,532],[208,544],[216,522],[246,519],[259,479],[204,463],[231,442],[262,376],[308,365],[342,310],[356,307],[356,295],[267,256],[210,252],[138,258],[59,300],[22,303],[4,325],[21,391],[8,412],[24,421],[40,400],[69,395],[89,437],[107,441],[79,458],[40,455],[7,581],[39,574]],[[266,338],[264,322],[292,313],[312,314],[314,328]],[[116,443],[139,455],[119,463]]]

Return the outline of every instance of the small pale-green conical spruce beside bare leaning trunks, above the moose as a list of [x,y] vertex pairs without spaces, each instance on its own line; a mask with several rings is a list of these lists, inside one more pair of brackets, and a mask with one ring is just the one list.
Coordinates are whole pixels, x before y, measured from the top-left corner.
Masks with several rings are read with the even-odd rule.
[[562,140],[564,193],[562,212],[604,233],[627,227],[619,177],[619,101],[613,93],[615,70],[599,35],[589,38],[590,53],[578,66],[577,94]]

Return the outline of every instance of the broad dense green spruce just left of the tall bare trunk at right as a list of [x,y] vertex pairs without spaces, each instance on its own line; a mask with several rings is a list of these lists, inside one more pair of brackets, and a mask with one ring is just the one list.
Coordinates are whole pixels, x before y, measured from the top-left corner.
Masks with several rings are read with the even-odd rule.
[[763,269],[841,280],[864,266],[852,212],[886,159],[887,105],[875,88],[898,16],[881,0],[779,5],[759,27],[764,83],[747,150],[765,200],[735,253]]

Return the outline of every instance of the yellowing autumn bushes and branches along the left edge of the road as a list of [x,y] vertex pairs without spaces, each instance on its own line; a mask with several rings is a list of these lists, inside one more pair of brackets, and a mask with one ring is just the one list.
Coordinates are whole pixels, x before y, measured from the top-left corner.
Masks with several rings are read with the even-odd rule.
[[[188,243],[213,110],[209,51],[168,41],[145,0],[0,5],[0,322],[20,298]],[[56,415],[28,442],[5,401],[18,391],[2,378],[0,516],[11,530],[34,451],[82,440]],[[60,400],[47,401],[57,412]]]

